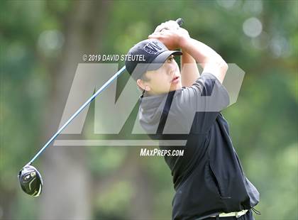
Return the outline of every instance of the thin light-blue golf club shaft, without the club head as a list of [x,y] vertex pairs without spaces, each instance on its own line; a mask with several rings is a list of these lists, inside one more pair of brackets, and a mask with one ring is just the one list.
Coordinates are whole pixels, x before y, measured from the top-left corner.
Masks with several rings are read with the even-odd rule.
[[[182,26],[183,20],[182,18],[178,18],[176,20],[176,22],[179,24],[179,26]],[[114,79],[116,79],[119,75],[121,75],[124,71],[126,70],[126,67],[123,66],[118,72],[116,72],[116,74],[111,77],[99,90],[97,90],[92,97],[90,97],[76,112],[75,114],[73,114],[70,119],[68,119],[68,121],[65,122],[65,124],[63,124],[61,126],[61,128],[59,128],[59,130],[53,135],[52,138],[50,138],[50,140],[45,143],[45,145],[43,145],[43,148],[41,148],[38,153],[36,153],[36,155],[29,161],[29,163],[27,165],[31,165],[33,163],[33,161],[38,158],[38,156],[43,153],[43,150],[45,150],[45,148],[47,148],[50,143],[52,143],[52,141],[55,140],[55,138],[57,138],[57,136],[61,133],[61,131],[63,131],[63,129],[73,120],[75,119],[75,117],[88,105],[90,104],[93,99],[95,99],[95,97],[97,97],[97,95],[99,95],[102,91],[104,91],[104,89],[106,89],[106,87],[109,86],[109,84],[111,84],[111,82],[114,81]]]

